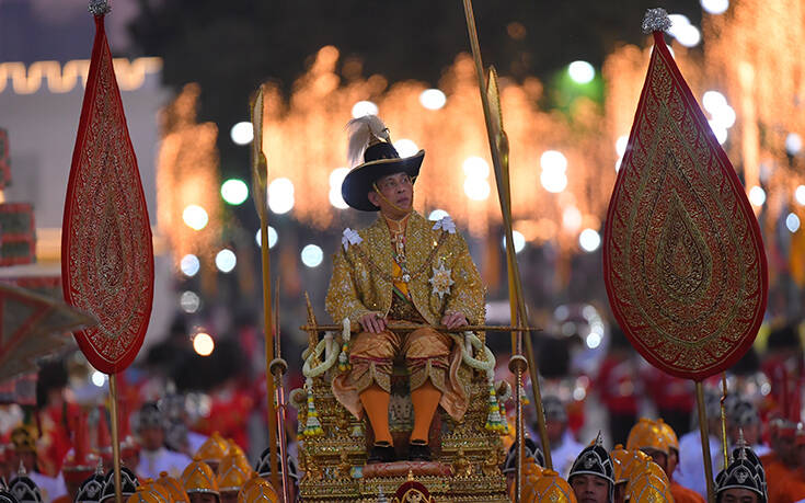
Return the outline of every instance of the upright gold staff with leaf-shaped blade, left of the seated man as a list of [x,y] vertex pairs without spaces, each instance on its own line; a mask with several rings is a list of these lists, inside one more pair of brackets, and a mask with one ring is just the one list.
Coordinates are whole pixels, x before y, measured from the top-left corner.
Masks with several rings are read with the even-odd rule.
[[[268,254],[268,208],[266,202],[266,179],[268,162],[263,153],[263,85],[252,101],[252,197],[260,217],[260,242],[263,262],[263,327],[265,332],[265,382],[268,401],[268,466],[272,468],[272,485],[279,489],[277,479],[277,416],[274,405],[274,378],[271,373],[274,362],[274,333],[272,331],[272,265]],[[285,434],[283,432],[281,434]],[[284,492],[285,489],[284,489]]]

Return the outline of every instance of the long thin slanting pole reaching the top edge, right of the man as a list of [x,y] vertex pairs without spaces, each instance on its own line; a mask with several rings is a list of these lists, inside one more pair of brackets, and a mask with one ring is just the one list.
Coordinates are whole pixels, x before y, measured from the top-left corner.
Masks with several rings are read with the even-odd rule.
[[[481,48],[478,41],[478,31],[475,30],[475,18],[472,12],[472,0],[463,0],[464,15],[467,18],[467,31],[470,35],[470,46],[472,47],[472,55],[475,61],[475,72],[478,76],[479,89],[481,92],[481,104],[483,105],[484,119],[486,123],[486,135],[490,141],[490,150],[492,152],[492,164],[495,170],[495,182],[497,185],[497,195],[501,199],[501,210],[503,214],[504,232],[506,235],[506,256],[507,266],[509,270],[509,278],[514,281],[515,285],[515,298],[517,300],[518,316],[516,320],[511,320],[515,325],[522,325],[527,322],[526,304],[522,297],[522,283],[520,282],[520,272],[515,258],[515,247],[511,231],[511,201],[509,186],[507,183],[508,175],[507,170],[504,169],[504,164],[501,159],[501,151],[495,139],[495,132],[492,124],[492,114],[490,110],[488,96],[486,94],[486,85],[483,72],[483,62],[481,61]],[[501,127],[503,130],[503,127]],[[505,135],[504,135],[505,138]],[[522,340],[522,335],[518,336]],[[537,362],[533,357],[533,347],[531,344],[531,338],[527,335],[525,341],[519,342],[517,345],[521,346],[525,342],[526,357],[528,358],[528,370],[531,377],[531,390],[533,392],[534,407],[537,408],[537,422],[539,425],[540,442],[545,456],[545,468],[553,469],[553,460],[551,458],[551,445],[548,439],[548,430],[545,427],[545,416],[542,411],[542,397],[540,392],[539,384],[539,371],[537,368]],[[519,348],[519,347],[518,347]],[[517,391],[519,392],[519,390]]]

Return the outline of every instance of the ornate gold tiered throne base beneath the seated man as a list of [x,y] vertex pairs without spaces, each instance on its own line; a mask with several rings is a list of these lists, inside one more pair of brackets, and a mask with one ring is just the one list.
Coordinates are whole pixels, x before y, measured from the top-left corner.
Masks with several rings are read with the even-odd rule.
[[[380,470],[370,471],[389,468],[388,471],[396,471],[394,476],[364,477],[367,446],[371,445],[372,433],[368,421],[355,419],[333,397],[331,381],[335,371],[337,369],[333,368],[313,379],[313,400],[324,434],[304,437],[300,442],[299,462],[304,471],[299,482],[301,501],[375,503],[382,490],[391,502],[396,489],[412,479],[423,483],[435,502],[509,501],[506,479],[499,469],[504,459],[501,437],[484,428],[488,403],[484,375],[462,367],[461,371],[472,373],[470,407],[458,423],[439,409],[430,432],[430,447],[437,462],[427,464],[432,465],[429,470],[416,467],[409,470],[407,466],[387,464],[379,467]],[[307,421],[306,393],[295,392],[291,397],[303,425]],[[413,408],[403,367],[395,368],[389,409],[395,445],[405,446],[413,426]],[[398,455],[404,453],[399,451]],[[430,475],[439,471],[433,467],[439,464],[441,475]],[[409,470],[407,475],[399,473],[401,468]]]

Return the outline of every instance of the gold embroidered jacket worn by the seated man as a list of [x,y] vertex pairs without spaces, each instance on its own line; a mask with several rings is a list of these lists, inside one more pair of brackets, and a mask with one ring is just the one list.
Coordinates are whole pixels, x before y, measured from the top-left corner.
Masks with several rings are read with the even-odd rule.
[[[483,323],[485,289],[467,242],[449,218],[441,221],[439,229],[434,229],[435,224],[414,212],[405,228],[409,291],[414,306],[430,324],[439,324],[447,311],[461,312],[470,324]],[[346,250],[341,247],[333,255],[333,277],[325,300],[334,321],[340,323],[348,318],[353,327],[364,315],[388,315],[392,298],[393,258],[388,225],[378,215],[375,224],[357,235],[360,239],[348,241],[345,231]],[[440,296],[429,279],[434,270],[442,265],[453,283]]]

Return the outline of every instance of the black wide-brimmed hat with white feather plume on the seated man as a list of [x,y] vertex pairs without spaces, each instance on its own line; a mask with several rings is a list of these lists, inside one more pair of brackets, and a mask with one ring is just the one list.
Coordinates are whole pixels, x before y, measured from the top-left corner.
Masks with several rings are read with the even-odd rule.
[[341,184],[341,195],[355,209],[377,212],[380,208],[371,204],[368,197],[375,182],[395,173],[406,173],[413,182],[419,174],[425,150],[401,158],[391,144],[389,128],[376,115],[349,121],[347,130],[347,156],[353,168]]

